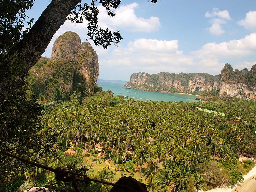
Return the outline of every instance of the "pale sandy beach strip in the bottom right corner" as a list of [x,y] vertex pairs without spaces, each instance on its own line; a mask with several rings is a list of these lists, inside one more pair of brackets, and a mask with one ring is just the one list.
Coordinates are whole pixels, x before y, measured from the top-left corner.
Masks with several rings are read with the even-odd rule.
[[[235,192],[236,189],[238,189],[239,192],[256,192],[256,180],[253,179],[253,176],[256,177],[256,166],[247,174],[243,175],[243,183],[237,183],[232,187],[218,187],[207,192]],[[203,190],[200,190],[199,192],[203,192]]]

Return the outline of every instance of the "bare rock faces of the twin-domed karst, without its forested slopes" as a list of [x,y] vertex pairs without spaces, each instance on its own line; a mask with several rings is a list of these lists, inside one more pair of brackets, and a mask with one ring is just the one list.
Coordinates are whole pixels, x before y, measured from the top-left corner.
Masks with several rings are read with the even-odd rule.
[[[99,75],[99,62],[97,53],[88,42],[83,42],[78,34],[72,31],[65,32],[59,36],[52,47],[50,61],[68,59],[74,62],[74,74],[80,71],[89,88],[89,92],[94,92],[94,87]],[[70,89],[73,88],[73,78],[70,79]]]

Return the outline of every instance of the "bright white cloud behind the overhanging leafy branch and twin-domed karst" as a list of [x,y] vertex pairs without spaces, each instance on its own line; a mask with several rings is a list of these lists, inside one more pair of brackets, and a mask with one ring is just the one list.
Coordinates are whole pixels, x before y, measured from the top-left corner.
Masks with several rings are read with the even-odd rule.
[[[101,28],[109,28],[111,31],[117,29],[123,29],[132,32],[151,32],[156,31],[161,26],[159,18],[151,16],[150,18],[138,17],[135,14],[135,9],[138,8],[137,3],[122,5],[117,9],[114,9],[116,16],[110,17],[106,13],[106,9],[103,6],[97,6],[99,9],[98,25]],[[86,41],[87,38],[87,26],[88,22],[83,23],[71,23],[69,20],[65,21],[59,30],[54,34],[50,44],[48,45],[43,56],[50,57],[52,52],[52,46],[57,37],[62,35],[66,31],[74,31],[79,34],[81,42]],[[93,42],[90,41],[93,45]],[[101,48],[97,48],[97,53],[106,54],[107,51]]]

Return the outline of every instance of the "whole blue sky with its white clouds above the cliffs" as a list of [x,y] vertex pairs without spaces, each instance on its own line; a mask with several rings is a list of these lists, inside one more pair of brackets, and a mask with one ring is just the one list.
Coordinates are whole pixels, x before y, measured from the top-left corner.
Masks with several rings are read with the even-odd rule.
[[[37,20],[50,2],[36,0],[29,18]],[[121,0],[115,17],[97,7],[99,26],[120,30],[124,38],[107,49],[89,41],[98,54],[100,79],[129,80],[132,73],[161,71],[217,75],[226,63],[239,70],[256,64],[255,0]],[[66,31],[84,42],[87,22],[65,21],[42,56],[51,56],[54,40]]]

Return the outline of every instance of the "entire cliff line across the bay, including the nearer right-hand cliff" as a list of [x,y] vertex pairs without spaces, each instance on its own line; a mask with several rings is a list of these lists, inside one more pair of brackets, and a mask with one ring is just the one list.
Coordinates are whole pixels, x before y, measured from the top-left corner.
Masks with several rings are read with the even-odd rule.
[[191,93],[219,91],[220,98],[237,97],[256,101],[256,65],[251,70],[233,70],[228,63],[221,74],[207,73],[133,73],[123,88],[149,91]]

